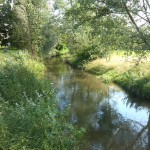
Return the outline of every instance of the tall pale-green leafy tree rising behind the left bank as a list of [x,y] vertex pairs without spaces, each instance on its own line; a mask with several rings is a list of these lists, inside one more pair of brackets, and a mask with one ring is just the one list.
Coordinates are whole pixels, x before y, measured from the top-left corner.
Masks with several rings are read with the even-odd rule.
[[[32,55],[36,55],[42,45],[41,30],[46,23],[48,14],[46,0],[18,0],[13,11],[13,44],[27,48]],[[18,43],[19,41],[19,43]]]

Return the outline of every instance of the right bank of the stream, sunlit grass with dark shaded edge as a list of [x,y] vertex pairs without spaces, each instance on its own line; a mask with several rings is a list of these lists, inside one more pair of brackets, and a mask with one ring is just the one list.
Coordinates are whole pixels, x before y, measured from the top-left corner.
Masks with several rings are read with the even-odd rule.
[[110,54],[107,59],[98,58],[93,61],[83,61],[69,55],[64,59],[67,63],[94,74],[96,78],[106,83],[117,83],[133,96],[150,99],[150,53],[148,52],[144,57],[133,52],[125,54],[121,51]]

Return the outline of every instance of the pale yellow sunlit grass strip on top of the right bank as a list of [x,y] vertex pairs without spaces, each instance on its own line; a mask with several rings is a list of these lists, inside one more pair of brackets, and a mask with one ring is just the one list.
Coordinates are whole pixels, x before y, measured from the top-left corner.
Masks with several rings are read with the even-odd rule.
[[[120,52],[121,53],[121,52]],[[139,72],[143,75],[150,74],[150,55],[148,53],[147,58],[142,58],[138,63],[139,55],[132,54],[127,56],[125,54],[112,53],[108,58],[98,58],[96,60],[90,61],[85,64],[85,69],[92,72],[94,69],[101,70],[104,68],[106,70],[114,70],[118,74],[122,74],[132,68],[138,67]]]

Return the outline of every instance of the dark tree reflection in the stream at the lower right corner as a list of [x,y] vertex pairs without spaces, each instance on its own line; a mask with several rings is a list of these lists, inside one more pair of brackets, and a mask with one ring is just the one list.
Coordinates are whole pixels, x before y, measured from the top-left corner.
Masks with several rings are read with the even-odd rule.
[[[103,100],[86,135],[93,150],[150,150],[150,112],[148,122],[143,125],[126,119],[118,113],[110,100]],[[95,136],[91,139],[91,136]],[[93,137],[94,137],[93,136]],[[92,141],[93,140],[93,141]]]

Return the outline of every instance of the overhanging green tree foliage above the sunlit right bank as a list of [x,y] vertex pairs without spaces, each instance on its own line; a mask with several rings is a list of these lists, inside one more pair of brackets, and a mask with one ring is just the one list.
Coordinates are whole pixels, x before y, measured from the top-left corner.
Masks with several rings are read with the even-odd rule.
[[[69,48],[75,53],[79,50],[83,57],[86,53],[92,59],[105,57],[112,50],[148,49],[148,3],[147,0],[141,4],[134,0],[71,1],[64,17],[73,27],[71,30],[68,26],[71,30],[67,41]],[[134,19],[138,20],[140,10],[145,15],[145,18],[140,17],[142,26]],[[74,48],[75,45],[78,47]]]

